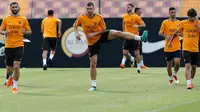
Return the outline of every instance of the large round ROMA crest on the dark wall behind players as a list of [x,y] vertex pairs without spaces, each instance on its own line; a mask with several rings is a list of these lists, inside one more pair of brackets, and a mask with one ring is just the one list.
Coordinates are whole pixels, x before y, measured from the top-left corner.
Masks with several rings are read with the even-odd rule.
[[87,38],[82,27],[78,27],[78,31],[81,35],[81,40],[76,39],[76,33],[73,27],[67,29],[62,36],[62,50],[68,57],[82,57],[88,53]]

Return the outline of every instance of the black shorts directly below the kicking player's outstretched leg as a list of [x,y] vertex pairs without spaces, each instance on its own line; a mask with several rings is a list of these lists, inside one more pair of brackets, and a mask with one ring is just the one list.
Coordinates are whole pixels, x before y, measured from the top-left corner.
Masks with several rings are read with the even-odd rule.
[[124,50],[139,50],[140,49],[140,42],[137,40],[127,40],[124,39],[123,43],[123,49]]

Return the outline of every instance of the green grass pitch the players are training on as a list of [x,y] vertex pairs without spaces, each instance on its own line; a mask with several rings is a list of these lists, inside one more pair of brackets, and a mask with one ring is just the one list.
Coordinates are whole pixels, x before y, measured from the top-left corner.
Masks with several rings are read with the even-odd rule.
[[200,69],[186,89],[184,68],[179,85],[168,85],[166,68],[98,68],[98,91],[90,88],[89,68],[21,69],[19,93],[3,86],[0,69],[0,112],[198,112]]

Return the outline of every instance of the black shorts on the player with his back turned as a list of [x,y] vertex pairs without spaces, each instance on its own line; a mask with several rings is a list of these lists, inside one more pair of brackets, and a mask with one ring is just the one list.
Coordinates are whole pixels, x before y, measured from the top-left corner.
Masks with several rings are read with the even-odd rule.
[[44,38],[42,43],[42,50],[55,50],[57,47],[57,38]]

